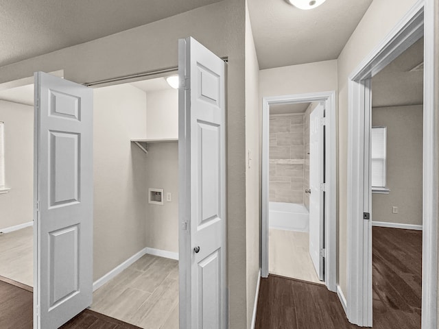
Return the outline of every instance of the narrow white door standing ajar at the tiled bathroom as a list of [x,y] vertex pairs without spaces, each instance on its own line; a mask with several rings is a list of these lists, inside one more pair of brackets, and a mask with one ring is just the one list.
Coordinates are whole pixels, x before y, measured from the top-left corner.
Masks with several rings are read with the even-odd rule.
[[324,280],[323,116],[324,105],[320,103],[309,118],[309,254],[319,280]]

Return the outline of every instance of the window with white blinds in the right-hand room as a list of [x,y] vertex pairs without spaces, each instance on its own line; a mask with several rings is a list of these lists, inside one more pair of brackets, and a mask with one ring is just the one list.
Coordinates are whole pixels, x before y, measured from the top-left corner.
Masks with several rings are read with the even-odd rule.
[[372,190],[385,188],[387,127],[372,127],[371,158],[372,158]]

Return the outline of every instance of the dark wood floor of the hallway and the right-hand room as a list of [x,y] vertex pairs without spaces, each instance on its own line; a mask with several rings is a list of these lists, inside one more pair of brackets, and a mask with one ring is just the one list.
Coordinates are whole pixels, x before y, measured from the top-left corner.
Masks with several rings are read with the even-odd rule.
[[[372,229],[373,328],[420,328],[422,232]],[[326,287],[270,275],[261,279],[257,329],[353,329]]]

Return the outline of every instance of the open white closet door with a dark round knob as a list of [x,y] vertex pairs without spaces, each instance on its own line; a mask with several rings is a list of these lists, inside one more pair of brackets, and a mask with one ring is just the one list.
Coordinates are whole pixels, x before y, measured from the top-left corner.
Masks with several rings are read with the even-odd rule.
[[226,64],[179,40],[180,329],[225,329]]

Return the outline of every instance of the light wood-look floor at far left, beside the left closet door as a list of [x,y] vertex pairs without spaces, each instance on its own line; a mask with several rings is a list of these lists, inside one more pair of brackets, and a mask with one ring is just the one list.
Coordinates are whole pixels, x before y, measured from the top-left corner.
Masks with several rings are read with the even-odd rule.
[[0,276],[34,286],[34,228],[0,234]]

